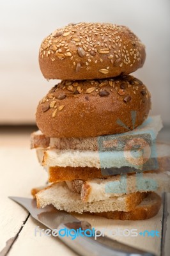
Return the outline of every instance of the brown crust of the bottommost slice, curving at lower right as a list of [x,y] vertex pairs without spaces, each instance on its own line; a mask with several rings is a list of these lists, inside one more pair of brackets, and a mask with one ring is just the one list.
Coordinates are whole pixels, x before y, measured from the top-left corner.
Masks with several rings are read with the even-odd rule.
[[[148,201],[146,199],[148,199]],[[161,198],[156,193],[152,192],[146,199],[146,204],[142,202],[129,212],[112,211],[88,213],[112,220],[146,220],[157,215],[161,206]]]

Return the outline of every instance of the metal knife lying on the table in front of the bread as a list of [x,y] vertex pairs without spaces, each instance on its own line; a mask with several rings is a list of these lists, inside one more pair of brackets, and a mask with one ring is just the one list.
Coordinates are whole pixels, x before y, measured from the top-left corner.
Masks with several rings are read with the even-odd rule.
[[[31,198],[9,196],[10,199],[24,206],[35,220],[39,221],[50,230],[91,230],[88,221],[80,221],[68,212],[59,211],[52,205],[47,205],[43,209],[36,207],[36,200]],[[120,243],[107,236],[94,237],[77,236],[72,240],[71,236],[58,236],[73,251],[82,256],[155,256],[153,253],[144,252],[132,246]]]

